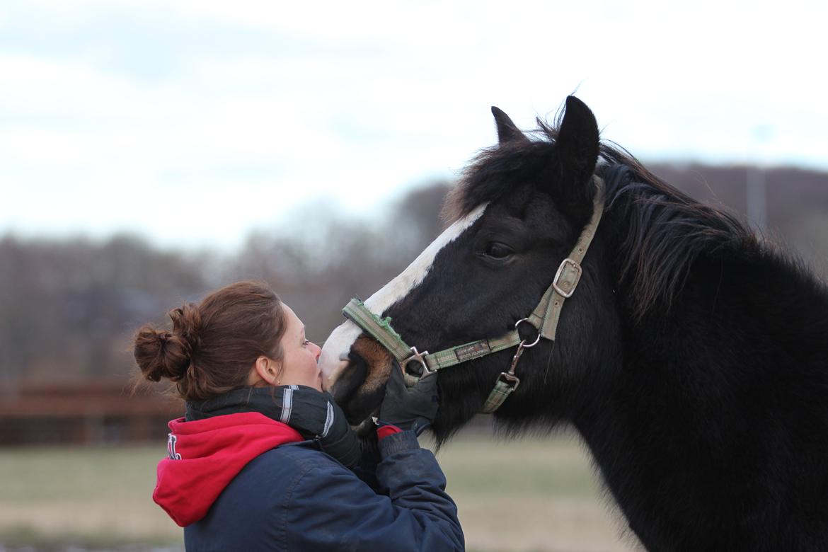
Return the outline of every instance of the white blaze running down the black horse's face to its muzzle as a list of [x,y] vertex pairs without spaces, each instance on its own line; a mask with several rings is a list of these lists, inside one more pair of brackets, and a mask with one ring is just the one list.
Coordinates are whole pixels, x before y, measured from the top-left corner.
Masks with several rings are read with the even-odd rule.
[[[368,310],[374,314],[383,314],[388,307],[411,293],[428,276],[437,252],[450,242],[459,238],[469,226],[474,224],[474,221],[480,218],[485,210],[486,204],[480,205],[465,217],[456,220],[449,228],[445,228],[443,233],[437,236],[414,259],[414,262],[408,265],[392,281],[389,281],[388,284],[368,297],[368,300],[365,300],[365,306],[368,307]],[[356,338],[361,333],[362,329],[358,325],[350,320],[345,320],[331,332],[325,341],[325,347],[322,348],[322,354],[319,359],[319,364],[322,368],[322,382],[325,389],[330,389],[330,386],[334,385],[339,374],[348,366],[348,361],[346,360],[348,352],[350,351],[351,345],[354,344],[354,341],[356,341]]]

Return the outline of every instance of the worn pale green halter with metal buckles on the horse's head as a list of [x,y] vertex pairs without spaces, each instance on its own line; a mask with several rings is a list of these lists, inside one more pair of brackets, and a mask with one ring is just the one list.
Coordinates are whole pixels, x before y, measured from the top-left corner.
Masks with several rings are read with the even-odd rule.
[[[561,266],[558,266],[555,278],[541,297],[541,302],[538,303],[535,310],[532,310],[532,314],[517,320],[514,329],[508,334],[504,334],[499,338],[479,339],[457,347],[443,349],[437,353],[429,353],[428,351],[421,353],[416,347],[409,346],[400,334],[397,334],[391,326],[390,317],[381,319],[378,314],[368,310],[368,307],[359,298],[350,300],[342,310],[342,314],[345,318],[357,324],[363,331],[370,334],[384,348],[388,349],[388,352],[400,363],[407,386],[414,386],[421,377],[431,376],[431,374],[443,368],[455,366],[455,364],[474,360],[475,358],[482,358],[517,345],[517,351],[512,358],[508,371],[500,373],[494,388],[489,393],[489,397],[480,411],[484,414],[490,414],[494,410],[498,410],[503,401],[506,401],[508,396],[520,384],[520,378],[515,376],[515,367],[517,367],[517,361],[520,360],[523,350],[534,347],[540,342],[541,338],[555,341],[564,301],[575,293],[575,287],[578,286],[582,274],[580,263],[584,260],[592,238],[595,238],[598,223],[604,213],[604,180],[601,180],[598,176],[594,176],[593,180],[595,181],[596,190],[590,223],[585,226],[569,256],[561,262]],[[520,324],[530,324],[537,331],[537,337],[531,343],[527,343],[527,339],[520,337],[518,331]],[[419,375],[415,376],[408,372],[407,366],[411,362],[417,362],[421,365]]]

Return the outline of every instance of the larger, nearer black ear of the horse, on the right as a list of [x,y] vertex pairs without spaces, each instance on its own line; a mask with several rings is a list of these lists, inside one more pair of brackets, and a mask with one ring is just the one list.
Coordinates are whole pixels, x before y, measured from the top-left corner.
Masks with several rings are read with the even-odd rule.
[[598,122],[590,108],[575,96],[566,98],[566,110],[555,141],[556,186],[566,202],[590,204],[592,188],[587,185],[598,162]]

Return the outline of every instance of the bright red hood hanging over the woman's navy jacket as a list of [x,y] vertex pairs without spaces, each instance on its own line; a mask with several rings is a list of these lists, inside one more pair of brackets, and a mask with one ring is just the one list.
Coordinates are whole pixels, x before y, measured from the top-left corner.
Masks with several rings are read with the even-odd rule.
[[158,463],[152,500],[184,527],[207,515],[224,487],[248,462],[280,444],[304,440],[298,431],[258,412],[205,420],[172,420],[167,454]]

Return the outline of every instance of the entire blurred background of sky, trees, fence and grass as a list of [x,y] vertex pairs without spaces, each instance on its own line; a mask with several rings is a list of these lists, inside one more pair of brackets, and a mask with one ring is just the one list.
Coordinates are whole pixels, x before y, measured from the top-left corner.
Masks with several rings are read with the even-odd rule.
[[[134,388],[132,334],[257,278],[324,341],[440,233],[491,105],[531,129],[576,93],[825,279],[825,11],[5,0],[0,550],[181,550],[150,498],[181,403]],[[636,550],[566,429],[482,418],[439,458],[469,550]]]

